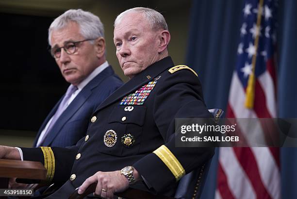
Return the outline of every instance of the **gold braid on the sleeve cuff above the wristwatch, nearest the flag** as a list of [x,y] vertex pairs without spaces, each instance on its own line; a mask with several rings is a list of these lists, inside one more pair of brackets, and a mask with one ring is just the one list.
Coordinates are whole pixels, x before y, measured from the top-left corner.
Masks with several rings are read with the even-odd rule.
[[165,145],[162,145],[153,151],[153,153],[155,153],[169,168],[176,181],[179,181],[181,177],[185,175],[185,170],[181,166],[181,163]]

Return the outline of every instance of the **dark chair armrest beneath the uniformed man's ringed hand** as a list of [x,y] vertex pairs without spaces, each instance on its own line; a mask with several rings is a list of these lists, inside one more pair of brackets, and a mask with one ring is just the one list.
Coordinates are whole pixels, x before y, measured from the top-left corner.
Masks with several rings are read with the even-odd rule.
[[[69,197],[69,199],[83,199],[89,194],[92,194],[96,190],[97,183],[91,184],[82,195],[78,194],[78,189],[76,189]],[[115,193],[116,196],[124,199],[174,199],[167,196],[153,195],[147,191],[142,191],[138,189],[128,188],[126,191],[121,193]]]

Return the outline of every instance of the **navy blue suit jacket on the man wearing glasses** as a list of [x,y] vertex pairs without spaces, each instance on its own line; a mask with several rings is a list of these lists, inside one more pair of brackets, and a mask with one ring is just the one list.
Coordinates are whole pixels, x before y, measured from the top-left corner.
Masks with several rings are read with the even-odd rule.
[[[102,101],[121,85],[122,81],[115,74],[112,66],[108,66],[101,71],[83,87],[81,92],[69,104],[48,133],[42,146],[66,147],[75,145],[85,136],[92,113]],[[34,147],[37,144],[40,133],[56,112],[63,98],[64,96],[57,102],[41,125],[34,141]]]

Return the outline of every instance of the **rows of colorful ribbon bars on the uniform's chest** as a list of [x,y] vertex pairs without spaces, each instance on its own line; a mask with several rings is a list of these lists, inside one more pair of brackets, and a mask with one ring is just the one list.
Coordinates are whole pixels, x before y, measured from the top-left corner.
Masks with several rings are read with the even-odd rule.
[[130,93],[128,96],[125,96],[120,105],[142,105],[144,101],[148,98],[149,93],[155,87],[157,80],[159,80],[161,76],[155,78],[153,81],[149,82],[138,88],[134,93]]

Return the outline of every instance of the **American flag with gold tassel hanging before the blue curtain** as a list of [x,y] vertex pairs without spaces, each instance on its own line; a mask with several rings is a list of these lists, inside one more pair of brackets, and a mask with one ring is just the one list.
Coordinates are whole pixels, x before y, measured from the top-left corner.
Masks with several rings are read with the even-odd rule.
[[[246,0],[227,117],[274,118],[276,1]],[[257,132],[263,133],[259,121]],[[248,139],[251,133],[238,126]],[[280,199],[278,148],[220,148],[216,199]]]

